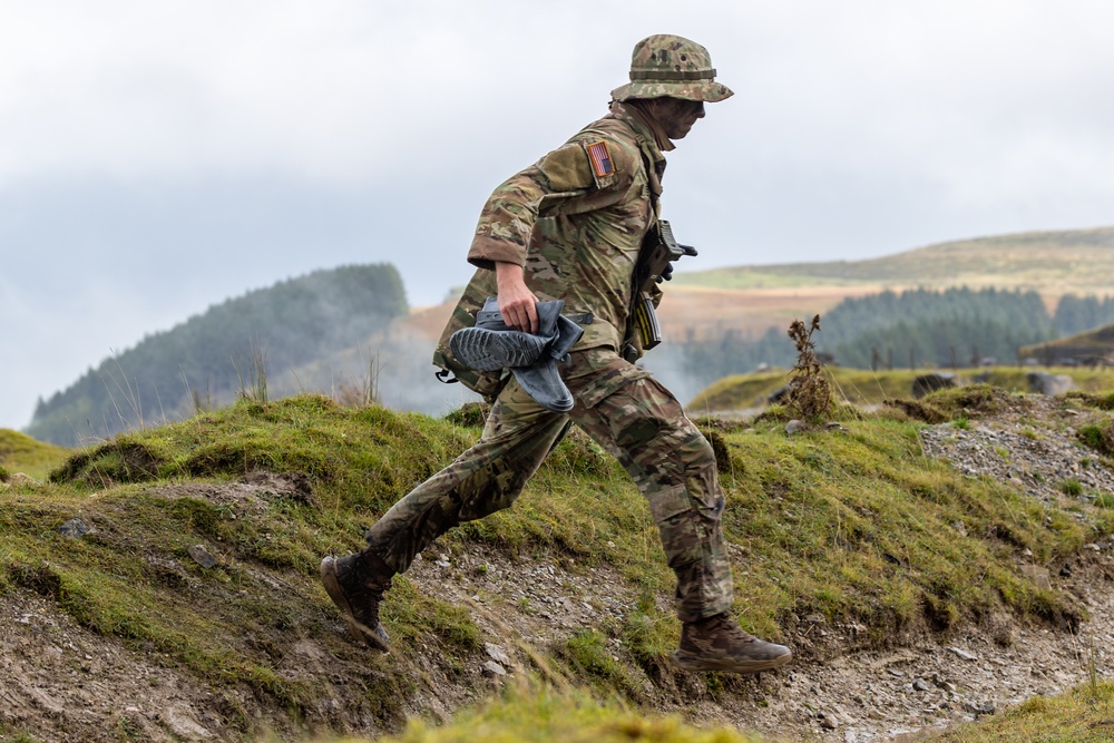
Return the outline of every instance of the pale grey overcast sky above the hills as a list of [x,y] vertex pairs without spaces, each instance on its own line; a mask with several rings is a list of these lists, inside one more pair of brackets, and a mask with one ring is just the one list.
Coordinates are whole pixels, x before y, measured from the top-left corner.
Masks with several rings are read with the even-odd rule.
[[700,267],[1114,224],[1112,28],[1103,0],[0,0],[0,427],[315,268],[439,302],[491,189],[651,33],[736,92],[670,156]]

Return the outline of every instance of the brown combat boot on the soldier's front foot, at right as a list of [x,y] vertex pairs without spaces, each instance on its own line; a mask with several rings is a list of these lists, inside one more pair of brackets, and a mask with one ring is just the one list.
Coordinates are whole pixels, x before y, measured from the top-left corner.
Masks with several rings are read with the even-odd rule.
[[673,662],[685,671],[727,671],[758,673],[784,665],[793,653],[747,635],[726,612],[697,622],[686,622],[681,629],[681,648]]

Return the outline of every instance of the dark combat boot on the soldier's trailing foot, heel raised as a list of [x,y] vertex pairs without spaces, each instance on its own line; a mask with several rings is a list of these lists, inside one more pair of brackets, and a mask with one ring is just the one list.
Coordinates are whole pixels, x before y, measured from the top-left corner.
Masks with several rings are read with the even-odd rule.
[[370,549],[321,560],[321,583],[348,622],[352,636],[384,653],[391,649],[391,638],[379,623],[379,603],[391,587],[393,575]]

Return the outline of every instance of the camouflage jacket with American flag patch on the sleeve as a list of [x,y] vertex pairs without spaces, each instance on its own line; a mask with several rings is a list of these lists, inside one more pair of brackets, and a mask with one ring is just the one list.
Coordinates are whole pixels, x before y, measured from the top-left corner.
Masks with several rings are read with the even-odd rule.
[[[448,338],[471,325],[495,295],[495,263],[524,267],[541,301],[565,300],[566,313],[590,312],[576,350],[622,350],[633,305],[633,274],[655,224],[665,157],[653,133],[622,104],[564,146],[496,188],[480,213],[468,261],[478,267],[438,344],[433,363],[490,397],[449,355]],[[482,375],[480,375],[482,377]],[[497,375],[495,375],[497,377]]]

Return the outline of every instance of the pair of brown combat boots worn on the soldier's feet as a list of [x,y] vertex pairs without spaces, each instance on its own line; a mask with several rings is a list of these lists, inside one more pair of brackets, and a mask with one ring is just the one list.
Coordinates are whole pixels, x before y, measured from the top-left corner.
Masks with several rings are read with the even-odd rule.
[[[321,581],[341,610],[352,636],[379,651],[390,649],[390,636],[379,622],[379,604],[394,575],[374,553],[321,561]],[[685,622],[673,662],[685,671],[756,673],[789,663],[792,652],[747,635],[726,612]]]

